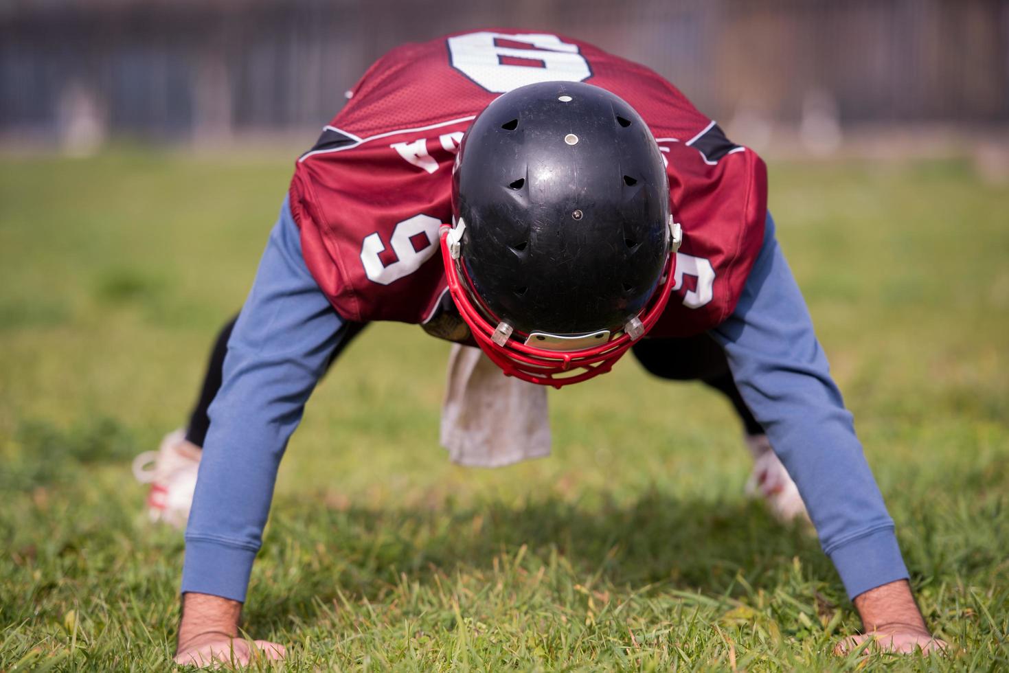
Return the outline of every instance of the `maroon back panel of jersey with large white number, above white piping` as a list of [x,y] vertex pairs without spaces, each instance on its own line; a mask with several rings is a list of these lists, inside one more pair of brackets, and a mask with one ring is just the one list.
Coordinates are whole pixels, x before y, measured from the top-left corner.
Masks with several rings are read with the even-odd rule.
[[358,137],[474,117],[538,82],[588,82],[638,110],[656,137],[692,137],[708,119],[653,71],[550,33],[480,30],[397,47],[376,61],[331,122]]

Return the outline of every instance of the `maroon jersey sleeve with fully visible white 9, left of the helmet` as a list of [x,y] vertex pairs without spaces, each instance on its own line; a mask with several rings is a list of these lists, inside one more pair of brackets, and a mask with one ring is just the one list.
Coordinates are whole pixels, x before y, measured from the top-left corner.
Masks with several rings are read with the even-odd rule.
[[438,229],[451,221],[459,125],[299,161],[291,202],[305,263],[348,320],[423,323],[434,310],[447,287]]

